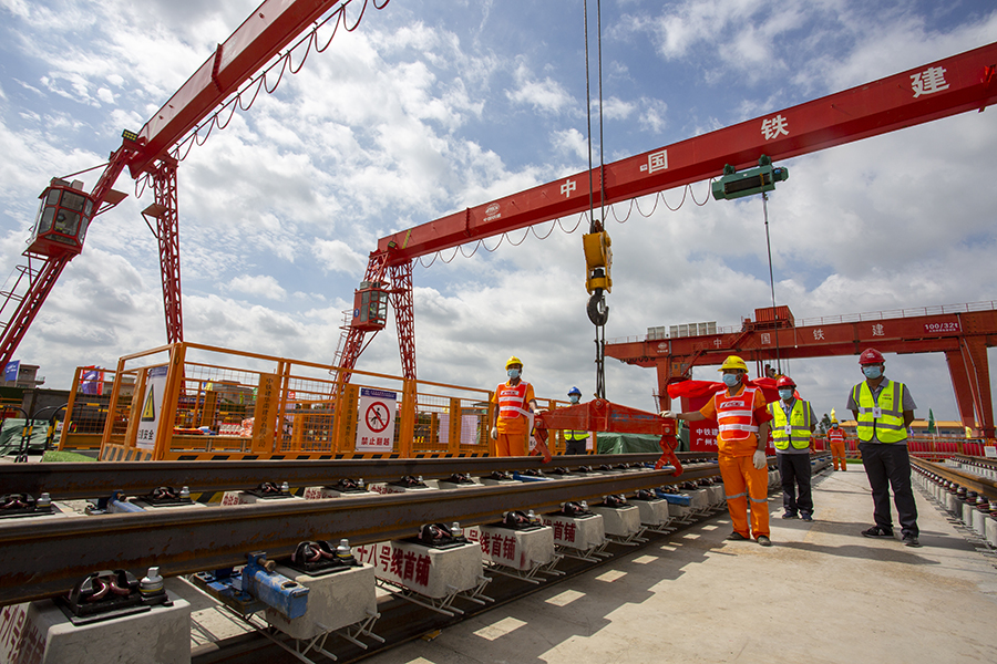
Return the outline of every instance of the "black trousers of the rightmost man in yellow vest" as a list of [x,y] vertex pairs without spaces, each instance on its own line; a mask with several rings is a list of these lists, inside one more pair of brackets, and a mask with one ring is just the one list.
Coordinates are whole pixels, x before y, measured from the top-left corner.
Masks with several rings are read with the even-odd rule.
[[865,476],[873,491],[873,516],[876,526],[893,530],[893,517],[890,513],[890,489],[893,489],[893,502],[901,530],[904,535],[917,537],[917,506],[914,505],[914,490],[911,487],[911,457],[906,445],[860,443]]

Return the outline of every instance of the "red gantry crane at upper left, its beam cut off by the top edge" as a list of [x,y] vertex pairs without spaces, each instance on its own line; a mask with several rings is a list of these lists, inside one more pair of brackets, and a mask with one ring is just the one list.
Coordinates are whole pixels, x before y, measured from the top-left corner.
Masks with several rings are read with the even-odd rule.
[[[382,9],[388,2],[390,0],[373,0],[372,4]],[[356,22],[348,25],[346,10],[351,3],[360,4],[360,10]],[[122,134],[121,147],[111,154],[92,191],[84,191],[80,180],[53,178],[40,196],[42,205],[29,246],[16,268],[13,287],[0,293],[0,367],[13,357],[18,344],[65,266],[82,251],[83,239],[93,218],[125,198],[125,194],[112,189],[125,167],[134,179],[147,178],[155,195],[155,203],[142,215],[160,245],[166,340],[167,343],[183,341],[177,146],[186,144],[189,149],[195,138],[204,141],[205,137],[197,137],[199,123],[212,116],[226,100],[229,100],[228,103],[222,107],[234,112],[238,97],[233,95],[237,95],[240,86],[275,58],[275,65],[279,66],[275,73],[278,82],[287,70],[296,72],[297,69],[290,63],[294,46],[282,54],[281,51],[298,35],[311,29],[308,39],[297,42],[295,46],[306,44],[306,53],[312,46],[321,51],[326,46],[318,45],[318,28],[335,19],[333,35],[340,25],[353,30],[367,6],[368,0],[266,0],[224,43],[218,44],[214,54],[145,123],[142,131]],[[329,15],[322,19],[327,12],[330,12]],[[258,85],[266,85],[264,76],[247,86],[251,93],[253,86],[257,85],[254,96],[259,92]],[[266,89],[273,92],[276,83]],[[214,126],[224,127],[224,124],[217,121],[216,115],[207,125],[207,133]],[[155,220],[155,228],[151,220]]]

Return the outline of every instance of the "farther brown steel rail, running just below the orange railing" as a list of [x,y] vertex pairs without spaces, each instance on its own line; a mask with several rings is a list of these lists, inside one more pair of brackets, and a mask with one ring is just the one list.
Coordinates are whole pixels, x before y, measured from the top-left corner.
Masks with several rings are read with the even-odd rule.
[[[122,490],[138,496],[167,486],[186,486],[192,492],[253,489],[263,481],[287,481],[292,488],[335,484],[341,478],[364,481],[399,479],[421,475],[436,479],[454,473],[490,475],[495,470],[536,468],[577,468],[589,465],[654,463],[660,454],[614,454],[557,456],[549,464],[533,457],[446,457],[419,459],[280,459],[218,461],[99,461],[83,464],[3,464],[0,466],[0,492],[45,491],[54,500],[95,498]],[[682,453],[679,458],[716,459],[716,453]]]

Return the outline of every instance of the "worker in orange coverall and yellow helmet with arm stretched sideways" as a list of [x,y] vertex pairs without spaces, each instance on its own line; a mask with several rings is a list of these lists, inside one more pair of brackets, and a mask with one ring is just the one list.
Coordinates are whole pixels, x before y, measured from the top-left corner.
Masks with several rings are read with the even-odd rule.
[[[686,422],[716,419],[717,460],[727,509],[733,523],[733,532],[727,539],[750,540],[752,535],[762,547],[770,547],[769,539],[769,466],[765,443],[769,439],[769,422],[772,415],[765,407],[761,388],[746,385],[748,365],[737,355],[730,355],[720,367],[723,372],[721,390],[699,411],[672,413],[664,411],[662,417]],[[751,523],[748,523],[748,504],[751,502]]]

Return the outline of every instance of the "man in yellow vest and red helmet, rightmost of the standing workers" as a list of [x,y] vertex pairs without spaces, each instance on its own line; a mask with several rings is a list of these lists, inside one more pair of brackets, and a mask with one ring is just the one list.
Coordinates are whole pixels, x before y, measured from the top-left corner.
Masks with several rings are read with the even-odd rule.
[[875,349],[859,355],[865,380],[849,392],[847,408],[855,416],[859,452],[873,494],[876,525],[863,530],[865,537],[893,537],[890,489],[896,506],[904,543],[919,547],[917,506],[911,485],[907,427],[914,422],[914,397],[903,383],[884,375],[886,360]]

